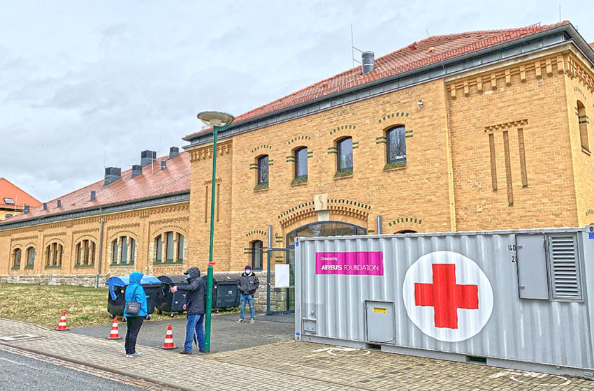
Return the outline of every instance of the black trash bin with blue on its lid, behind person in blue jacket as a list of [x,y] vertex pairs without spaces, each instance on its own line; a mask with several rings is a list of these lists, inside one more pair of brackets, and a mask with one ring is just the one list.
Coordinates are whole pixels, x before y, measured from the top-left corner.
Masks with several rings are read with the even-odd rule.
[[[126,305],[126,288],[130,285],[129,276],[113,276],[107,279],[106,286],[109,287],[107,311],[111,316],[124,316]],[[154,312],[154,304],[157,301],[157,293],[161,288],[161,281],[155,276],[143,276],[140,285],[147,295],[147,319],[150,319]],[[125,319],[124,319],[125,321]]]

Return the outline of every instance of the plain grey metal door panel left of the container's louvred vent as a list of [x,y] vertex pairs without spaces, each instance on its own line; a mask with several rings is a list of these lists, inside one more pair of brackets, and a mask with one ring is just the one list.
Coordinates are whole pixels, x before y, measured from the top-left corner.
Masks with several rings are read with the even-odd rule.
[[520,298],[549,300],[544,235],[516,235],[516,262]]

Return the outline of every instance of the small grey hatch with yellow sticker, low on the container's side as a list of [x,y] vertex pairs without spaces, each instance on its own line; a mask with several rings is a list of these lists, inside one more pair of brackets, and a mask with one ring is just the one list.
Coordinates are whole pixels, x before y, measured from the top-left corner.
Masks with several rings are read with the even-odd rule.
[[377,344],[394,343],[394,303],[365,302],[367,341]]

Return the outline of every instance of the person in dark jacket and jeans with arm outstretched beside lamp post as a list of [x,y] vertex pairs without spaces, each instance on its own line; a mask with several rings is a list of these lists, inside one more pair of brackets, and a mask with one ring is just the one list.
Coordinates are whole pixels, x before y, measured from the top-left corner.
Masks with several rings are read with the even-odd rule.
[[198,350],[204,353],[204,313],[206,312],[206,284],[200,276],[200,269],[198,267],[190,267],[187,272],[189,285],[173,286],[171,293],[178,290],[186,290],[186,304],[184,309],[188,311],[188,323],[186,325],[186,342],[184,350],[180,353],[191,354],[192,341],[194,340],[194,332],[196,332],[196,339],[198,340]]

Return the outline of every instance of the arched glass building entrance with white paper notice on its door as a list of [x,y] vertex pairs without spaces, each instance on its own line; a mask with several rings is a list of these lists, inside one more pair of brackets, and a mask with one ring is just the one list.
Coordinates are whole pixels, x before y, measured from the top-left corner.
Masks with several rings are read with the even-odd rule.
[[[268,273],[266,278],[266,312],[291,313],[295,304],[295,238],[321,236],[367,235],[367,229],[342,221],[319,221],[306,224],[286,235],[285,249],[268,249]],[[280,265],[280,266],[277,266]],[[273,270],[274,268],[274,270]],[[287,268],[289,275],[287,276]],[[288,287],[278,287],[281,280]]]

